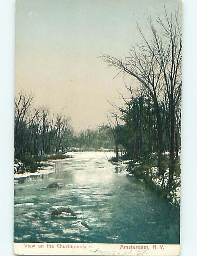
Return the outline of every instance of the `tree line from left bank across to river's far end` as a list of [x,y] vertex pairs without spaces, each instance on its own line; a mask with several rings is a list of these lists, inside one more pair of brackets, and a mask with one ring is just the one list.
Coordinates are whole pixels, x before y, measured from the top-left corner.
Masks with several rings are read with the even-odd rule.
[[33,108],[33,96],[18,93],[14,115],[15,158],[66,152],[68,148],[97,150],[114,148],[114,137],[105,126],[74,132],[71,118]]

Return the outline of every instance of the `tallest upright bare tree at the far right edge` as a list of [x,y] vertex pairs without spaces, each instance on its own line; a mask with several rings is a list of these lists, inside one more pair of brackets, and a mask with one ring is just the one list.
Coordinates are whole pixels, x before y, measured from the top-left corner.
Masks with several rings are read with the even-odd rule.
[[[169,183],[173,180],[175,157],[175,109],[181,97],[181,61],[182,61],[182,25],[181,15],[177,10],[168,14],[165,9],[164,19],[157,16],[156,21],[160,25],[157,30],[152,20],[149,20],[153,35],[152,45],[145,40],[150,51],[154,51],[154,57],[162,69],[163,83],[169,100],[170,114],[170,160]],[[143,35],[142,35],[143,36]],[[143,38],[145,38],[143,36]]]

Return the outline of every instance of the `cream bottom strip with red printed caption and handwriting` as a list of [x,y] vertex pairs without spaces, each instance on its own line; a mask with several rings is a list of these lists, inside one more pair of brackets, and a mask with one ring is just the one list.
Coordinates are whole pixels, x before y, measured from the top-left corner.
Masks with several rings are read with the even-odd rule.
[[13,243],[17,255],[178,256],[179,244]]

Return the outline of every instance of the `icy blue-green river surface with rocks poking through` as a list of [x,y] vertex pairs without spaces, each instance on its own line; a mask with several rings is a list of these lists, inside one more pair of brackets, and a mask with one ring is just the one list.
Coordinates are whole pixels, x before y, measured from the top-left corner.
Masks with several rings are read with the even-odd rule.
[[[127,177],[126,164],[104,152],[72,154],[53,162],[55,172],[15,183],[14,242],[179,244],[179,209]],[[52,182],[62,188],[40,190]],[[58,206],[77,218],[51,218]]]

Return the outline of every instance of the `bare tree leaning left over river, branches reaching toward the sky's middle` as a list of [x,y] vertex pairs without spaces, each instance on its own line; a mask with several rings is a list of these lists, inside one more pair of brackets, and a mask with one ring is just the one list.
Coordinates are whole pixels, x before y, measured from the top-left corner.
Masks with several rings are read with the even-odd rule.
[[[137,49],[136,49],[137,48]],[[157,64],[154,58],[154,52],[147,51],[144,43],[136,46],[131,46],[130,56],[122,58],[114,58],[105,54],[101,56],[109,63],[108,67],[114,66],[120,69],[123,74],[129,74],[135,77],[140,84],[142,84],[149,92],[156,111],[157,128],[158,128],[158,167],[159,173],[163,173],[162,168],[162,122],[161,113],[159,109],[159,95],[162,92],[161,72],[162,69]],[[120,73],[119,72],[119,73]]]

